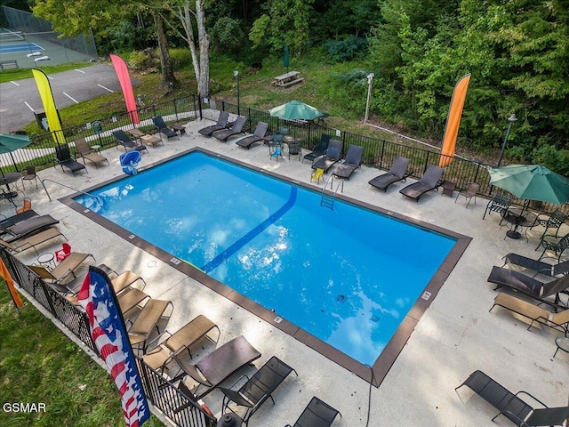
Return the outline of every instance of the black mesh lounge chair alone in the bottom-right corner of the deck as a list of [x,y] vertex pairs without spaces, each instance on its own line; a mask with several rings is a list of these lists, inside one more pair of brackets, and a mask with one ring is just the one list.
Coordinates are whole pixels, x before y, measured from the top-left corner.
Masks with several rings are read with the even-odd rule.
[[[569,407],[547,407],[540,399],[533,397],[527,391],[518,391],[514,394],[501,384],[496,383],[482,371],[474,371],[454,391],[457,391],[463,385],[469,387],[470,390],[477,393],[478,396],[500,411],[493,417],[492,421],[499,415],[504,415],[512,423],[525,427],[563,425],[565,419],[569,416]],[[532,398],[543,407],[533,409],[528,403],[520,399],[521,394]]]

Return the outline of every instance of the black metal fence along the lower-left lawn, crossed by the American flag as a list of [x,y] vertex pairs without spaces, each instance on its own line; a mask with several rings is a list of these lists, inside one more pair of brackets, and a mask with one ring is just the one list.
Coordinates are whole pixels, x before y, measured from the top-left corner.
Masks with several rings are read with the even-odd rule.
[[[39,302],[45,310],[48,310],[53,318],[57,318],[84,342],[85,346],[99,355],[99,351],[92,341],[89,332],[89,318],[84,310],[78,309],[69,302],[52,286],[45,283],[36,273],[17,258],[0,248],[0,257],[12,278]],[[217,420],[206,413],[194,400],[178,390],[164,376],[157,373],[152,367],[148,367],[144,360],[135,358],[142,380],[142,387],[150,403],[157,407],[164,415],[180,427],[213,427]]]

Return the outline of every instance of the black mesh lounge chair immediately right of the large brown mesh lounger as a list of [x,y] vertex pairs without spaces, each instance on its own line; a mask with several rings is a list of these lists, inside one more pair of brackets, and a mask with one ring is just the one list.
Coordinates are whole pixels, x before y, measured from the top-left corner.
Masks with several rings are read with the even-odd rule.
[[[226,413],[227,410],[233,412],[229,407],[230,402],[234,402],[241,407],[246,407],[247,409],[244,415],[241,415],[241,418],[245,425],[249,425],[249,420],[252,415],[267,399],[271,399],[273,405],[275,405],[275,400],[272,396],[273,391],[283,383],[284,378],[291,372],[294,372],[294,374],[298,376],[292,367],[289,367],[282,360],[273,356],[265,365],[260,367],[251,378],[244,375],[244,377],[247,378],[247,382],[244,383],[238,391],[223,387],[219,388],[225,395],[221,405],[221,412]],[[241,378],[243,378],[243,376]],[[241,378],[239,378],[236,383],[239,383]],[[231,388],[235,387],[235,385],[236,384],[233,384]]]

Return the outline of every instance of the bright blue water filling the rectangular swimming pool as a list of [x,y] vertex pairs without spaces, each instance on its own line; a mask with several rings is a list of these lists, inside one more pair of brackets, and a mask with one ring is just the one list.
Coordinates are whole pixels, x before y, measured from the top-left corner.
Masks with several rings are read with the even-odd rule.
[[76,200],[368,365],[455,244],[203,153],[94,193]]

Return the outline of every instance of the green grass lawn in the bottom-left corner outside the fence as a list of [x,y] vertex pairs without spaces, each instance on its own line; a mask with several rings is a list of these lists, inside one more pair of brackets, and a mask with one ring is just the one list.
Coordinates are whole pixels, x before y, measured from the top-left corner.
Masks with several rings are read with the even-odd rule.
[[[4,403],[44,403],[9,413]],[[108,373],[31,303],[20,313],[0,284],[0,425],[120,426],[120,397]],[[145,426],[163,425],[152,415]]]

